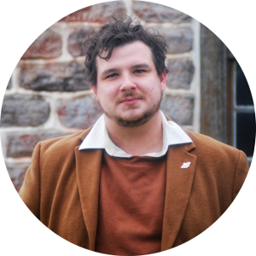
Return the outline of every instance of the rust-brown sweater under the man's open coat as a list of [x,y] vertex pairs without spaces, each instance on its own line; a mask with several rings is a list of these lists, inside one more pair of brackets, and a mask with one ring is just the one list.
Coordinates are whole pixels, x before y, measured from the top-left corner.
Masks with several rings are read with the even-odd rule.
[[96,256],[160,255],[166,156],[102,158]]

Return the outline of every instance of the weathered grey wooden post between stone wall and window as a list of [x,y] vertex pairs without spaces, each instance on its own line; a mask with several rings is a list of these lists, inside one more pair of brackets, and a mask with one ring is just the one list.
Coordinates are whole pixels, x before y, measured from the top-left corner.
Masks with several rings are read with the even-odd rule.
[[201,133],[223,143],[229,122],[227,1],[201,0]]

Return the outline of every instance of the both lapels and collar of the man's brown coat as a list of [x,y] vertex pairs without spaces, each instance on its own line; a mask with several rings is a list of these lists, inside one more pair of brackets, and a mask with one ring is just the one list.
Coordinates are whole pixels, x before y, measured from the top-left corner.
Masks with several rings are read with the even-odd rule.
[[[81,142],[91,128],[84,131]],[[189,133],[189,132],[187,132]],[[161,256],[169,255],[183,222],[195,175],[196,156],[190,152],[194,143],[170,146],[166,160],[166,201],[163,218]],[[84,222],[90,240],[92,256],[95,252],[99,185],[102,166],[102,149],[75,148],[76,172]],[[190,162],[187,169],[183,163]]]

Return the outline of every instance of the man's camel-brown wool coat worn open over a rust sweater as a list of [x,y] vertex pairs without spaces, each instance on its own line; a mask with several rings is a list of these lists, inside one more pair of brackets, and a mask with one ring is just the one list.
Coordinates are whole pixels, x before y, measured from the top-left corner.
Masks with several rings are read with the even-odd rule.
[[[38,143],[3,224],[1,256],[94,255],[102,149],[79,151],[89,131]],[[246,155],[185,132],[193,143],[167,152],[160,255],[253,255],[253,181]],[[189,168],[181,168],[184,162],[191,162]]]

